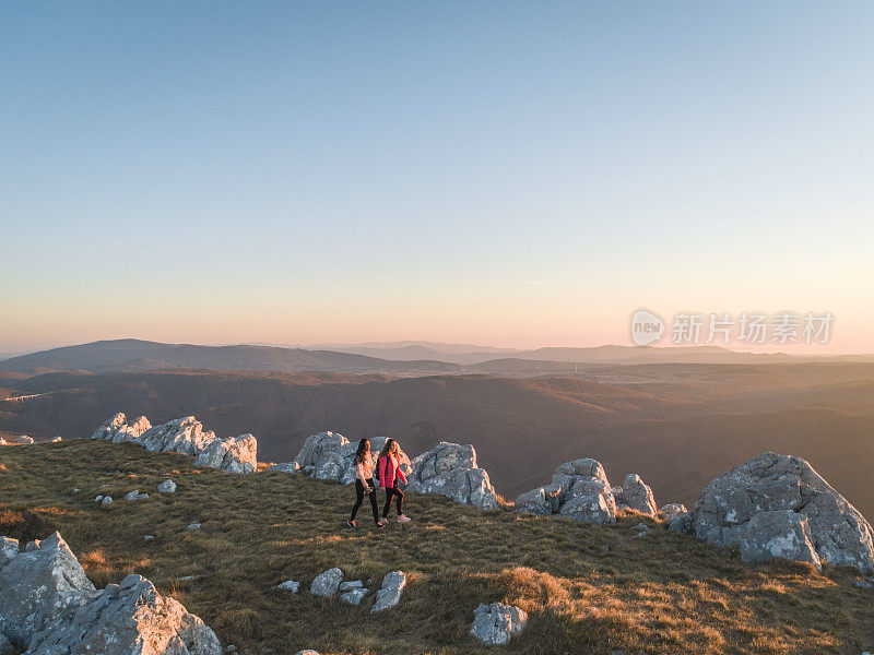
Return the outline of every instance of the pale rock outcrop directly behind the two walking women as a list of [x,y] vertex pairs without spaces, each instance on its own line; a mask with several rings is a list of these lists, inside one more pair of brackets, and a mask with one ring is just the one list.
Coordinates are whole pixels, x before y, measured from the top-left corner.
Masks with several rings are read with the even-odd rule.
[[[374,483],[377,487],[379,487],[379,475],[376,467],[377,457],[385,448],[386,441],[388,441],[387,437],[374,437],[370,439]],[[271,466],[271,469],[285,469],[294,473],[293,465],[296,464],[300,471],[320,480],[336,480],[343,485],[351,485],[355,481],[355,465],[353,461],[357,449],[357,441],[349,441],[336,432],[320,432],[307,437],[294,463],[277,464],[275,468]],[[412,471],[410,457],[406,456],[402,449],[399,454],[401,471],[409,475]]]

